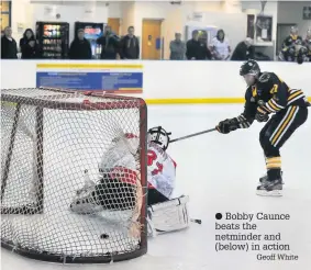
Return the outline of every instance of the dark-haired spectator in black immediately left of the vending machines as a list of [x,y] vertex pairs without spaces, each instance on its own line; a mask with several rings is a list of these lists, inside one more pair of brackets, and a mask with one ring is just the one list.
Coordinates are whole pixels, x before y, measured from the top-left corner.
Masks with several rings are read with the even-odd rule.
[[38,46],[31,29],[26,29],[23,37],[20,40],[20,48],[22,52],[22,59],[38,58]]

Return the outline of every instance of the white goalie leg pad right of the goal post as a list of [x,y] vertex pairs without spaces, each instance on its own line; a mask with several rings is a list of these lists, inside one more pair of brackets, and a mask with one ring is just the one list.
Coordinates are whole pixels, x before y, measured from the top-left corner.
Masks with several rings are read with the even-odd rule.
[[[148,206],[148,222],[157,233],[168,233],[189,227],[189,196],[180,196]],[[153,232],[148,232],[154,234]]]

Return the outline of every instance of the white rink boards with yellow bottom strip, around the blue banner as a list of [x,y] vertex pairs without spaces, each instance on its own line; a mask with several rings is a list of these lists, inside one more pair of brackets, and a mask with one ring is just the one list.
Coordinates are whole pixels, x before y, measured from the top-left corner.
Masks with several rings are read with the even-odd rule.
[[[1,88],[36,87],[37,64],[77,64],[90,61],[2,60]],[[91,65],[104,61],[91,61]],[[122,61],[109,61],[122,65]],[[238,61],[123,61],[142,65],[143,93],[149,104],[176,103],[242,103],[245,82],[238,76]],[[274,71],[291,88],[302,89],[311,99],[311,64],[260,63],[266,71]],[[56,70],[57,71],[57,70]]]

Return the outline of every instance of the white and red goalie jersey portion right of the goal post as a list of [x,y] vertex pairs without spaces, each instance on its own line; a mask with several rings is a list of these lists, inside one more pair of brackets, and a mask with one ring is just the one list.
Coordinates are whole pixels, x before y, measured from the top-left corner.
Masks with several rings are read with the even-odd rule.
[[154,142],[148,142],[147,173],[148,189],[156,189],[167,199],[171,199],[175,189],[176,162]]

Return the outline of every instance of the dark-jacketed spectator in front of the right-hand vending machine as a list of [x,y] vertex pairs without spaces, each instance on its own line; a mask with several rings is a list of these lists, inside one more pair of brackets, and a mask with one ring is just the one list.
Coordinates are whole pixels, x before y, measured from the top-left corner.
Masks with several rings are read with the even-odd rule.
[[78,30],[77,36],[70,44],[69,57],[70,59],[92,58],[91,44],[87,38],[85,38],[85,30]]

